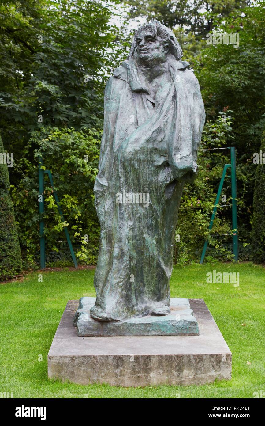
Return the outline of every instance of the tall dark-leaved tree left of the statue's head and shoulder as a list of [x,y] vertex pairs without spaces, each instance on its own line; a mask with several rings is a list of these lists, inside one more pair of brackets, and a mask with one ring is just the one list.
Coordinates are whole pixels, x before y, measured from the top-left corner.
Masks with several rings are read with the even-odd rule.
[[1,2],[0,128],[15,156],[39,127],[101,126],[112,12],[96,0]]

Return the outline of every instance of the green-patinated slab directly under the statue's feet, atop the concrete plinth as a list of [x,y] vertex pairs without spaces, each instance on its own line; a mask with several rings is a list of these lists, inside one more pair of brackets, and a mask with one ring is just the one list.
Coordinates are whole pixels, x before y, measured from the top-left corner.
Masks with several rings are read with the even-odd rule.
[[171,298],[171,313],[164,317],[148,315],[123,321],[99,322],[90,316],[95,297],[82,297],[74,318],[78,336],[182,336],[199,334],[188,299]]

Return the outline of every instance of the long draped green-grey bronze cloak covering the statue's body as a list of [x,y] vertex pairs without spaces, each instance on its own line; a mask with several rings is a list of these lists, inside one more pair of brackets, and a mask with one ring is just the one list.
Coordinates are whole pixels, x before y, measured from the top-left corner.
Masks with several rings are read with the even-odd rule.
[[[100,251],[96,306],[112,319],[145,316],[170,305],[177,213],[185,181],[197,173],[205,121],[199,83],[188,63],[169,55],[170,76],[151,98],[134,59],[109,78],[94,185]],[[149,204],[117,203],[117,194],[149,194]]]

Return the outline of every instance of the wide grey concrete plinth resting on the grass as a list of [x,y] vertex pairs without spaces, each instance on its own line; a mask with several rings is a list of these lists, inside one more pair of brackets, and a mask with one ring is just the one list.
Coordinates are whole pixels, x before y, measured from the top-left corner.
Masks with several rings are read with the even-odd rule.
[[202,299],[189,299],[197,336],[78,337],[70,300],[48,353],[48,377],[79,384],[189,385],[231,378],[231,351]]

